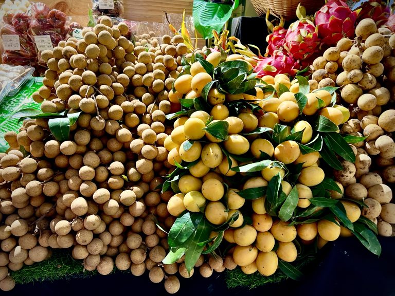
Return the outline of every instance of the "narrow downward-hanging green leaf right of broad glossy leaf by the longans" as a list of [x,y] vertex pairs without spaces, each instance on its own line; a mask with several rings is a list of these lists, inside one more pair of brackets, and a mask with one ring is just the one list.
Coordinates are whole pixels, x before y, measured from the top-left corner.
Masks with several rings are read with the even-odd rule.
[[187,251],[185,252],[185,267],[188,273],[191,272],[197,260],[199,259],[203,249],[205,248],[204,245],[199,246],[198,244],[207,241],[210,236],[210,232],[211,226],[209,225],[207,220],[204,218],[201,219],[199,224],[197,225],[196,231],[194,232],[194,236],[187,247]]

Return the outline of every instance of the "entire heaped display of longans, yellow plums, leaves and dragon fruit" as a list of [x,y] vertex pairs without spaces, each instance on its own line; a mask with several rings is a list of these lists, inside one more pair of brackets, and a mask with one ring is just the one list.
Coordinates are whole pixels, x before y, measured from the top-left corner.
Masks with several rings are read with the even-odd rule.
[[393,16],[339,0],[296,15],[267,21],[264,55],[226,30],[200,49],[184,22],[131,36],[107,15],[41,50],[0,153],[0,289],[65,257],[176,293],[195,272],[298,280],[340,236],[379,256],[395,225]]

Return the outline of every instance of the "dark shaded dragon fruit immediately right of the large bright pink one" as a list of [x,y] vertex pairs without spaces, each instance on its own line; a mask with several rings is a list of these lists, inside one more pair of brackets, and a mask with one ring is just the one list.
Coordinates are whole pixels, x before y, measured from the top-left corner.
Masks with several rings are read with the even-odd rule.
[[358,7],[360,12],[356,18],[356,23],[359,23],[364,18],[371,18],[378,27],[384,25],[391,11],[389,8],[388,0],[387,2],[369,0],[363,2],[360,7]]

